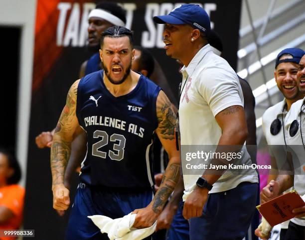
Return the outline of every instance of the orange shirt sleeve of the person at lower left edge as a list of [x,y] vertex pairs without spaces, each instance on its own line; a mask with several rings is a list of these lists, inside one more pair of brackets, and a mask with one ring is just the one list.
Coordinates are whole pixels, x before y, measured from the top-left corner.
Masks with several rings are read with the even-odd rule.
[[19,216],[23,211],[23,201],[24,189],[16,185],[9,191],[5,191],[4,196],[0,199],[0,206],[8,208],[14,215]]

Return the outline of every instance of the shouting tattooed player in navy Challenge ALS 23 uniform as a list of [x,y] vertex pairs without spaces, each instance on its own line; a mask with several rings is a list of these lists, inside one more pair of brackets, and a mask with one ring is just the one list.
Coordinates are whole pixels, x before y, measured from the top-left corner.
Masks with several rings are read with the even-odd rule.
[[[51,147],[55,209],[66,210],[70,204],[64,170],[73,134],[80,127],[87,133],[87,154],[66,240],[107,240],[87,218],[92,215],[116,219],[134,212],[133,227],[152,226],[179,179],[171,103],[157,85],[131,70],[134,54],[129,29],[106,29],[100,49],[104,70],[77,80],[69,90]],[[152,199],[149,150],[153,132],[167,151],[169,163]]]

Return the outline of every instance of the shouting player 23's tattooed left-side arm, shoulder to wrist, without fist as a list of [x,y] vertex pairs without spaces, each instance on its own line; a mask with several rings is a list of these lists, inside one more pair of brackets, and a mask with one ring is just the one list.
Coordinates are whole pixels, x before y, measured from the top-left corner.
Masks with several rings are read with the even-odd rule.
[[52,186],[63,183],[65,168],[71,154],[73,133],[78,126],[75,113],[78,83],[79,80],[71,86],[67,95],[66,105],[54,130],[53,144],[51,146]]

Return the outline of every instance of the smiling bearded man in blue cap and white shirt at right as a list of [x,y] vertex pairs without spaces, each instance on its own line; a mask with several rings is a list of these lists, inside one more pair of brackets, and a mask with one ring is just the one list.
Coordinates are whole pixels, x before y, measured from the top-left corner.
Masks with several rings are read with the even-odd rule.
[[[268,183],[277,178],[279,169],[282,169],[286,162],[287,152],[285,144],[288,133],[283,131],[283,121],[290,111],[292,104],[304,97],[299,91],[297,83],[298,64],[303,53],[304,51],[300,48],[286,48],[281,51],[276,58],[274,71],[275,81],[285,98],[283,101],[267,109],[263,115],[262,127],[268,143],[272,162]],[[288,224],[289,221],[281,224],[280,240],[285,239]],[[264,232],[266,233],[266,231]],[[257,234],[259,237],[263,237],[259,232]]]

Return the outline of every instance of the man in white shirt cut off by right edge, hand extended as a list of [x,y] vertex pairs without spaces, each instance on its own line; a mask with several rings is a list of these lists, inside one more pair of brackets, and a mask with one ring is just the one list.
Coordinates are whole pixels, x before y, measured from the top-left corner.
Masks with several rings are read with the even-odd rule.
[[[303,53],[304,54],[304,53]],[[305,93],[305,55],[300,61],[298,77],[298,87],[301,93]],[[271,181],[262,191],[262,199],[268,201],[290,187],[294,187],[305,200],[305,104],[304,100],[299,100],[291,106],[289,113],[284,121],[286,131],[286,143],[288,151],[291,153],[294,175],[279,175],[277,179]],[[301,134],[302,133],[302,134]],[[273,191],[270,192],[270,187]],[[304,240],[305,239],[305,205],[294,209],[298,213],[296,218],[289,223],[285,240]]]

